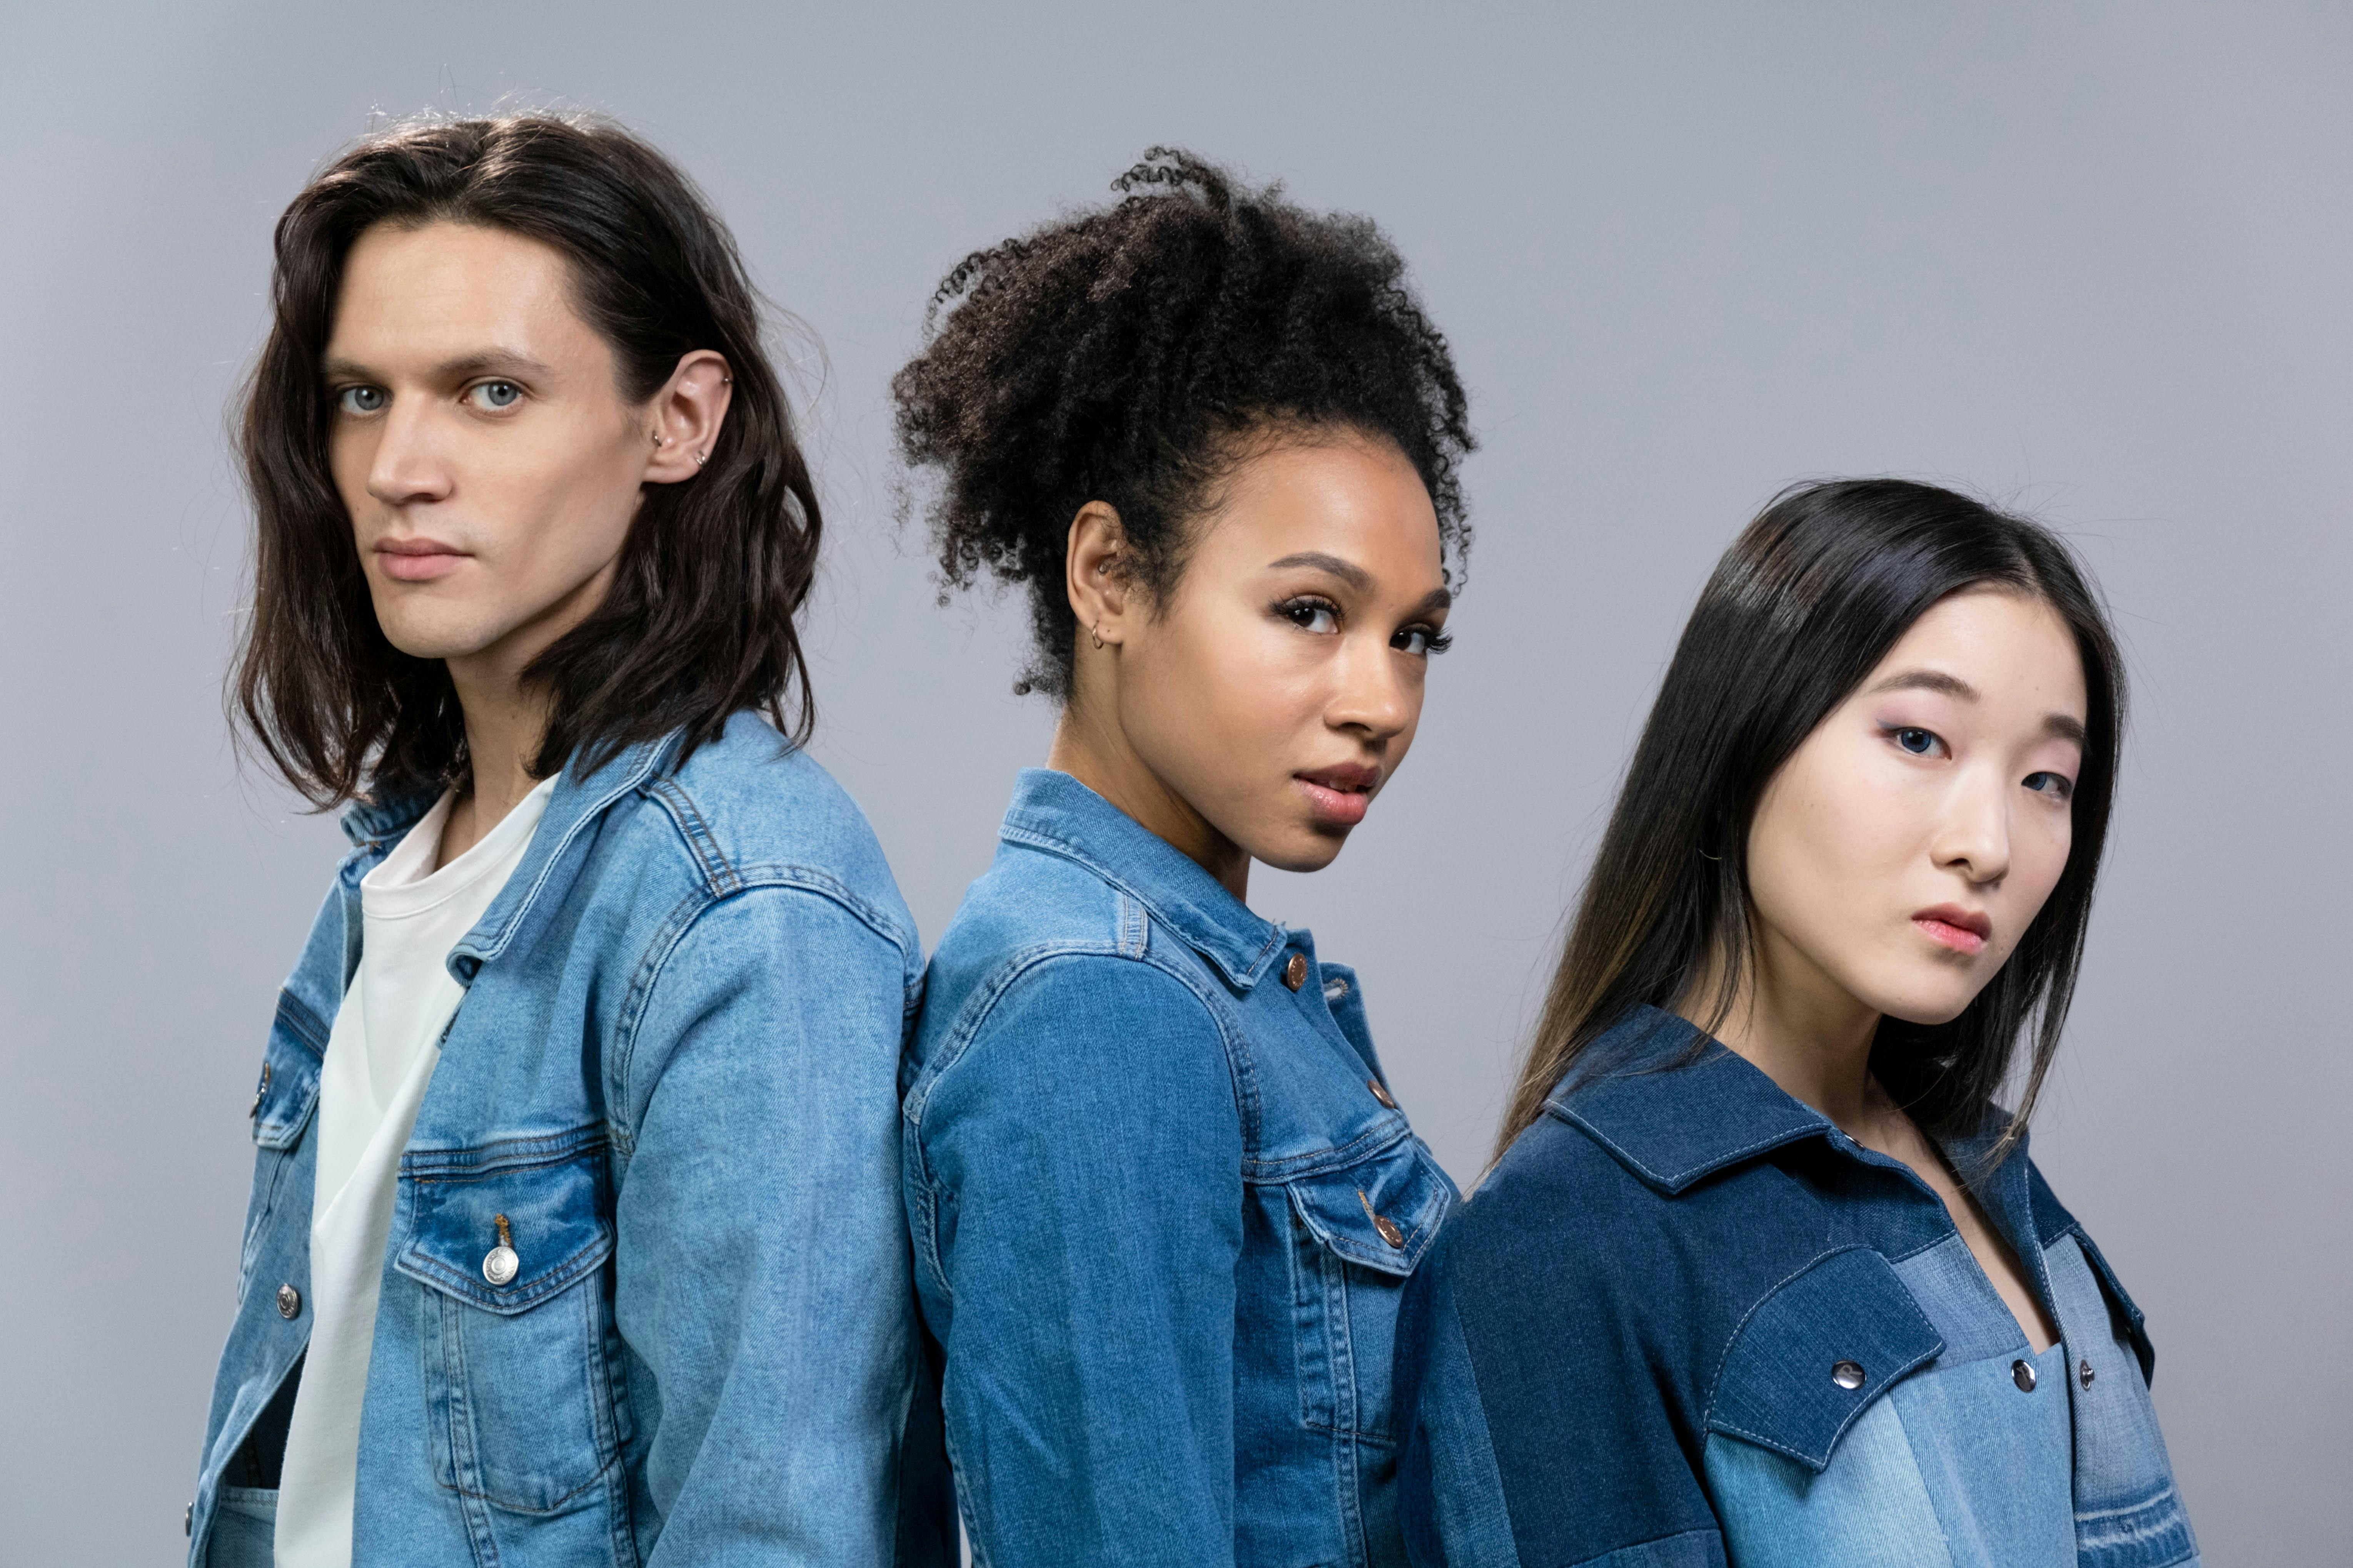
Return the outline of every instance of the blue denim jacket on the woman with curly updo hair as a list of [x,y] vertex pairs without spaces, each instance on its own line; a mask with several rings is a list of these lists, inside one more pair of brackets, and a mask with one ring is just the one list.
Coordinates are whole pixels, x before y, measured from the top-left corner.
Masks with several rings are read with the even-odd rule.
[[1391,1338],[1454,1187],[1355,976],[1026,771],[906,1063],[974,1563],[1395,1563]]

